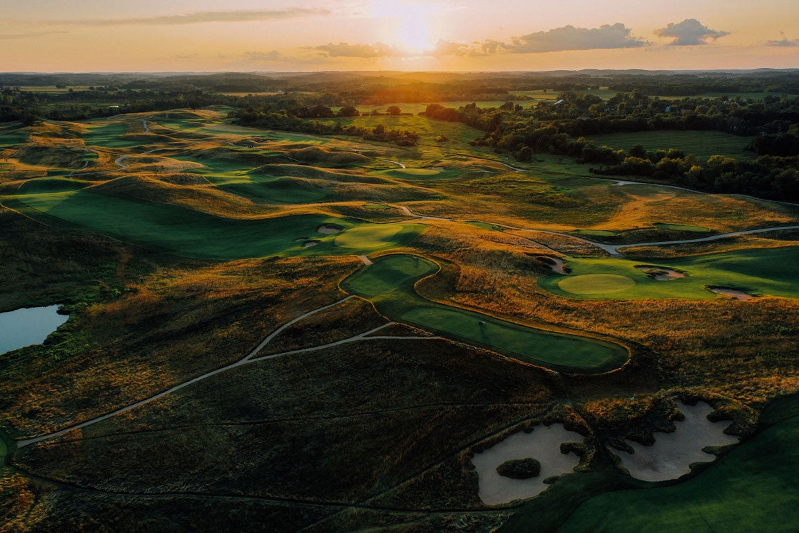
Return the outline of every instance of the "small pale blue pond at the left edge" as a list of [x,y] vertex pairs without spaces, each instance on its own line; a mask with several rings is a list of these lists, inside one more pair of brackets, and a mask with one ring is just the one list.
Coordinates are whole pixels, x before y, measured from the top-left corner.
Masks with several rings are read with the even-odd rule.
[[70,317],[58,315],[58,307],[26,307],[0,313],[0,354],[41,344]]

